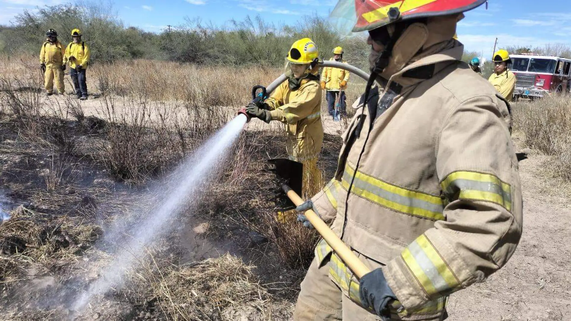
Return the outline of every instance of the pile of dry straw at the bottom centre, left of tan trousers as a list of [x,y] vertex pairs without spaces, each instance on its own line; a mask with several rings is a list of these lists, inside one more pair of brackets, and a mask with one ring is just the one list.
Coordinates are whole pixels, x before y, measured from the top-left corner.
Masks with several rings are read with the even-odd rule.
[[252,273],[255,267],[230,254],[169,267],[152,259],[145,268],[139,286],[151,288],[169,320],[233,320],[228,318],[232,310],[264,311],[269,303],[270,295]]

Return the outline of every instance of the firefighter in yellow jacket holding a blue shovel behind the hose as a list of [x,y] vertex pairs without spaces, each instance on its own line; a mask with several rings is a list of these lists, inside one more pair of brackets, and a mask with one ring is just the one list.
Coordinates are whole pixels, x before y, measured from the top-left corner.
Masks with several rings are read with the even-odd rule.
[[[343,48],[335,47],[333,49],[333,58],[331,61],[343,61]],[[325,99],[327,99],[327,110],[329,115],[335,117],[335,99],[339,97],[339,113],[346,115],[345,111],[345,90],[347,90],[347,82],[349,81],[349,71],[325,67],[321,72],[321,89],[326,91]]]

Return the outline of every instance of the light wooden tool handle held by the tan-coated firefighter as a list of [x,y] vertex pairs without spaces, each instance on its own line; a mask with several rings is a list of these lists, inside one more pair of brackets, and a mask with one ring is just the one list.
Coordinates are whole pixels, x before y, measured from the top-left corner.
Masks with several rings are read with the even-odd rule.
[[[289,188],[289,186],[284,184],[282,189],[284,192],[286,192],[288,198],[291,199],[295,206],[300,206],[303,204],[303,199],[301,199],[295,191]],[[339,256],[339,258],[341,258],[341,260],[347,264],[351,271],[353,271],[353,274],[357,276],[357,279],[360,279],[363,277],[363,275],[371,272],[371,270],[369,270],[369,268],[365,266],[365,264],[363,264],[359,258],[357,258],[357,255],[351,251],[351,248],[349,248],[347,244],[343,243],[339,236],[335,235],[331,228],[329,228],[329,226],[323,222],[319,215],[315,214],[313,210],[305,211],[304,215],[309,223],[313,224],[315,230],[317,230],[317,232],[323,236],[325,242],[327,242],[333,251],[335,251],[335,254],[337,254],[337,256]]]

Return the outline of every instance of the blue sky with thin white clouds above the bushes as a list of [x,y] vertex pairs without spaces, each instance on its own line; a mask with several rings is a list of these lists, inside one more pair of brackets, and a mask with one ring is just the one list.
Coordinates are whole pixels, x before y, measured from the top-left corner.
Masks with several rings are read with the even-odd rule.
[[[56,5],[64,0],[0,0],[0,24],[9,24],[24,9]],[[295,23],[305,14],[328,15],[336,0],[115,0],[119,18],[127,26],[160,32],[167,25],[178,26],[184,17],[199,17],[203,23],[230,26],[228,21],[261,15],[265,21]],[[532,0],[489,0],[485,6],[466,13],[458,27],[459,40],[467,50],[490,57],[494,40],[498,47],[543,46],[563,43],[571,46],[569,0],[546,0],[546,6]],[[561,11],[562,10],[562,11]]]

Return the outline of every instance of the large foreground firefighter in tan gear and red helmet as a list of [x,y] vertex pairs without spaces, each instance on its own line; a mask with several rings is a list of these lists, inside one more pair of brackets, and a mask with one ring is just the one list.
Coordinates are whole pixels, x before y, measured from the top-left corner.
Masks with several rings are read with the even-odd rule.
[[508,103],[453,39],[485,1],[337,3],[332,17],[352,7],[353,31],[369,33],[372,75],[334,178],[297,210],[333,220],[371,272],[357,280],[321,240],[295,320],[442,320],[449,294],[512,256],[522,199]]

